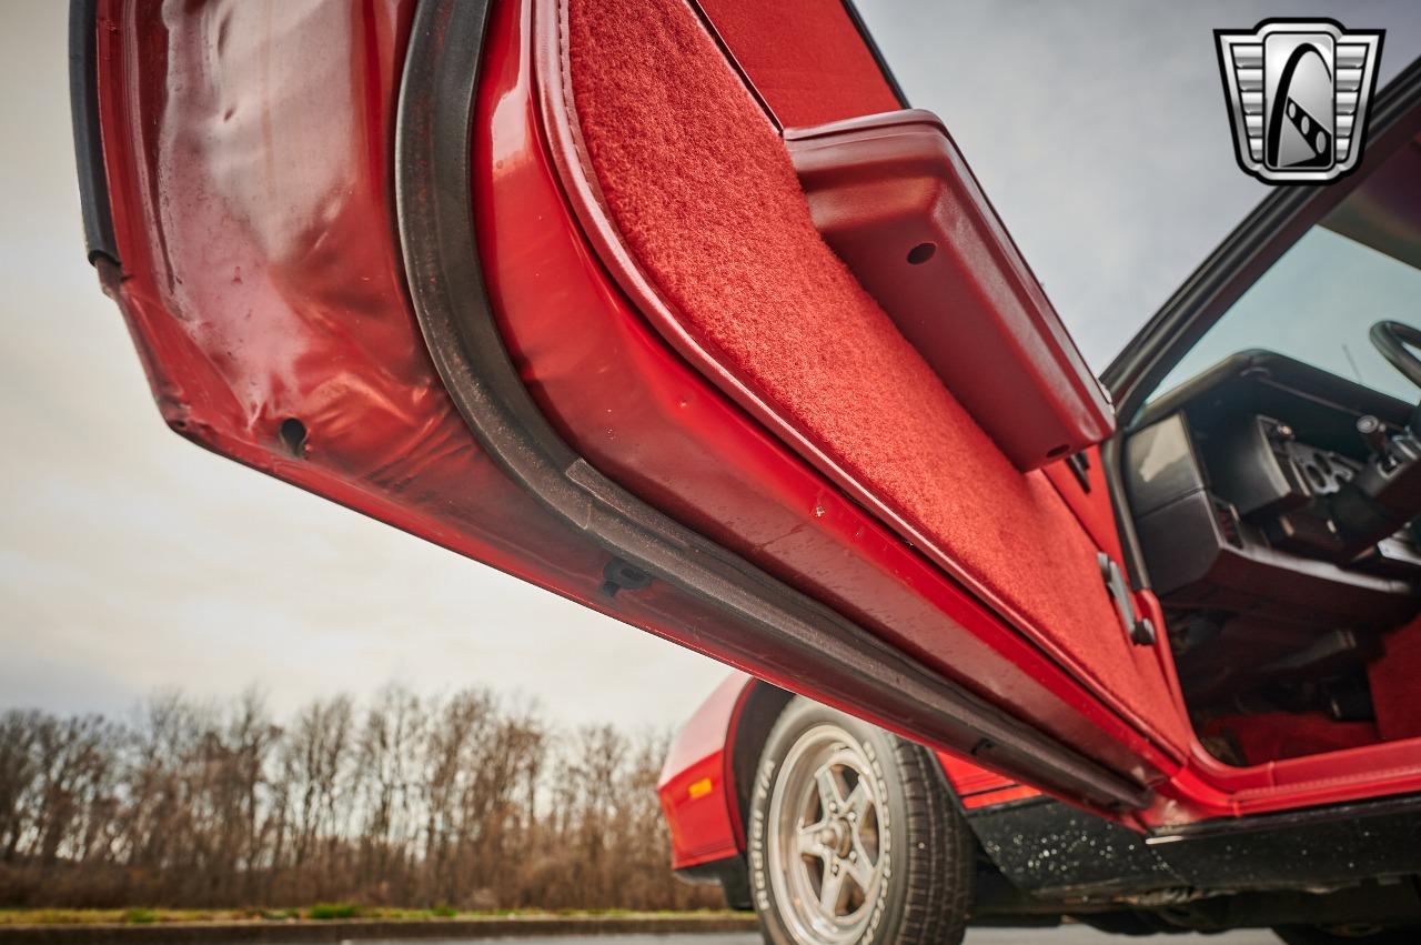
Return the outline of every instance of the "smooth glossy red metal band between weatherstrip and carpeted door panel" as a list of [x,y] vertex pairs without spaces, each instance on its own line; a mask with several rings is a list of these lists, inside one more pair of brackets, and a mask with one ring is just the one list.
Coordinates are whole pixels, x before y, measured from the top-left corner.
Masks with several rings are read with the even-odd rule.
[[[539,11],[546,9],[537,7]],[[551,18],[547,16],[543,21]],[[495,24],[502,27],[500,20]],[[539,48],[557,50],[560,45],[556,40],[544,40]],[[553,68],[544,74],[549,71]],[[507,81],[516,87],[517,80]],[[550,94],[546,84],[543,94]],[[818,597],[834,601],[841,611],[877,628],[918,658],[953,674],[975,666],[963,678],[990,686],[993,698],[1020,705],[1044,728],[1094,746],[1100,746],[1100,739],[1091,728],[1106,725],[1111,726],[1107,730],[1118,730],[1103,716],[1086,720],[1076,712],[1063,712],[1053,701],[1032,708],[1017,702],[1020,698],[1037,699],[1034,681],[1052,672],[1047,669],[1052,662],[1043,661],[1029,639],[963,595],[951,578],[895,540],[811,469],[794,462],[762,428],[718,396],[659,341],[639,311],[621,301],[615,288],[601,280],[588,284],[576,303],[568,303],[580,313],[571,324],[558,307],[547,304],[544,273],[570,271],[583,252],[583,237],[571,229],[566,252],[554,254],[558,243],[549,239],[549,222],[556,219],[563,198],[549,190],[547,168],[514,158],[523,153],[527,136],[540,134],[540,117],[530,102],[527,126],[513,129],[510,102],[514,95],[499,85],[489,87],[487,95],[490,108],[496,107],[509,121],[504,141],[493,134],[486,153],[482,139],[476,139],[475,149],[480,244],[496,261],[490,267],[496,274],[490,277],[490,291],[524,381],[560,432],[598,469],[678,520],[712,534],[796,587],[813,587]],[[560,109],[560,104],[546,102],[543,111],[556,115]],[[503,129],[492,121],[492,112],[479,126],[495,132]],[[486,172],[490,173],[487,180],[482,178]],[[547,203],[530,206],[527,200],[533,193],[546,193]],[[534,229],[541,234],[537,239],[540,253],[527,252],[536,239]],[[598,233],[593,236],[598,239]],[[607,247],[603,259],[618,252],[618,247]],[[558,291],[571,297],[577,284],[566,280]],[[608,317],[594,318],[598,310]],[[617,377],[617,384],[604,382],[607,377]],[[1000,459],[998,462],[1005,466]],[[1007,470],[1007,475],[1020,479],[1015,472]],[[1039,475],[1032,477],[1032,496],[1033,502],[1046,503],[1066,526],[1053,534],[1083,541],[1074,519]],[[1108,634],[1110,644],[1117,644],[1124,639],[1123,631],[1100,584],[1094,550],[1088,543],[1077,549],[1076,564],[1083,566],[1084,574],[1077,571],[1076,580],[1087,581],[1086,598],[1100,608],[1094,628]],[[1003,665],[1000,655],[982,651],[972,635],[1005,648],[1010,665]],[[1115,647],[1117,654],[1141,661],[1142,679],[1158,679],[1151,654],[1137,657],[1125,649]],[[1017,684],[1022,671],[1032,679],[1025,688]],[[1123,672],[1135,671],[1124,668]],[[1083,671],[1083,675],[1091,674]],[[1133,685],[1121,689],[1125,699],[1138,698]],[[1104,693],[1107,699],[1118,695],[1118,689]],[[1172,702],[1162,688],[1157,696],[1168,706],[1161,718],[1169,725],[1175,719]],[[1111,705],[1128,713],[1123,705],[1125,699]],[[1155,732],[1154,719],[1147,722],[1142,713],[1130,718]],[[1160,740],[1168,745],[1169,738],[1167,729]],[[1172,738],[1182,743],[1177,726]]]

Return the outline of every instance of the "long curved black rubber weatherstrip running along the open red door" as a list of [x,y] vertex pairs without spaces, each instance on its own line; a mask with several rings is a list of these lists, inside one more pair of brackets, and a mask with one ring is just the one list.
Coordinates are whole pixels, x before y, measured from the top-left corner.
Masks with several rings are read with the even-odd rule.
[[[642,503],[553,429],[509,360],[473,232],[470,141],[487,0],[421,0],[395,131],[398,233],[431,355],[465,421],[502,469],[549,512],[614,556],[723,612],[699,630],[746,665],[813,681],[833,699],[871,689],[884,720],[972,752],[1047,790],[1141,809],[1141,787],[928,671],[833,610]],[[635,573],[634,571],[634,573]],[[634,594],[635,591],[627,591]],[[752,628],[737,632],[736,628]]]

